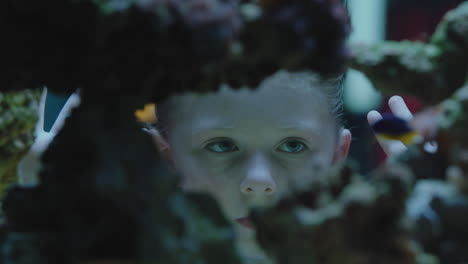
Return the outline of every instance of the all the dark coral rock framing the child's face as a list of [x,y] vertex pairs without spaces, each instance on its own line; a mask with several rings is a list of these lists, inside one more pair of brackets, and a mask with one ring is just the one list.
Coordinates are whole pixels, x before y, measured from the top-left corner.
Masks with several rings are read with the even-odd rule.
[[[254,211],[258,240],[278,263],[468,259],[467,8],[449,12],[429,43],[354,47],[351,65],[377,88],[434,104],[410,124],[424,141],[369,181],[345,167]],[[255,88],[283,68],[340,74],[349,30],[333,0],[4,1],[2,91],[80,88],[82,103],[44,153],[40,184],[13,187],[3,202],[3,263],[239,263],[216,203],[182,193],[133,110],[223,82]],[[8,102],[33,106],[35,96]],[[0,102],[2,117],[21,109]],[[9,164],[35,118],[14,115],[1,119]],[[424,147],[431,141],[435,153]]]

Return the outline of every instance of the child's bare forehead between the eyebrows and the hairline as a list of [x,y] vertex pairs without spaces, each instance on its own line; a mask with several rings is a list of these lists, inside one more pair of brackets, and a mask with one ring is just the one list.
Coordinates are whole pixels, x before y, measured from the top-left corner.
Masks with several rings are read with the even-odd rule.
[[226,118],[243,120],[243,123],[259,119],[284,123],[288,120],[323,119],[330,115],[325,95],[319,89],[276,84],[262,85],[255,90],[224,87],[216,93],[174,97],[172,121]]

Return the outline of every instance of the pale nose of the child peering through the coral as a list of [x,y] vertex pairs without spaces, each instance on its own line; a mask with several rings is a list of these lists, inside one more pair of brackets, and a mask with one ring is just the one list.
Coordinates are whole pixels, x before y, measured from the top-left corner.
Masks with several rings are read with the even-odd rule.
[[254,196],[269,196],[275,193],[276,183],[267,159],[258,154],[251,158],[240,184],[240,191],[245,195]]

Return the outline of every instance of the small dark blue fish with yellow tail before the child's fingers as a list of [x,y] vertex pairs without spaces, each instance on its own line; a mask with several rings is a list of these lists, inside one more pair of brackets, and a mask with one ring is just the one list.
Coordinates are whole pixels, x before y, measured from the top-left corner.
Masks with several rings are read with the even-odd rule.
[[412,144],[419,136],[409,122],[393,114],[384,113],[382,119],[372,125],[377,137],[390,140],[399,140],[405,145]]

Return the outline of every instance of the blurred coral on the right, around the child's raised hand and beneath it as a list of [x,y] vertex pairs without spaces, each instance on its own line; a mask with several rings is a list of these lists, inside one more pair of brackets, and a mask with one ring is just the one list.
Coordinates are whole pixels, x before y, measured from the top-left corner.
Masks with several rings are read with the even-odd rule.
[[376,88],[432,104],[409,124],[423,140],[369,181],[345,168],[331,175],[338,185],[254,211],[258,241],[278,263],[468,260],[467,11],[465,2],[447,13],[429,43],[352,47],[351,66]]

